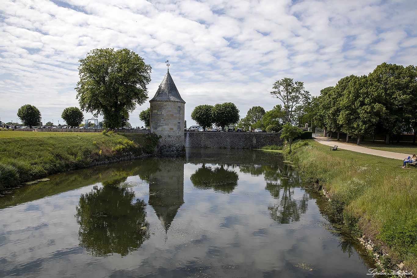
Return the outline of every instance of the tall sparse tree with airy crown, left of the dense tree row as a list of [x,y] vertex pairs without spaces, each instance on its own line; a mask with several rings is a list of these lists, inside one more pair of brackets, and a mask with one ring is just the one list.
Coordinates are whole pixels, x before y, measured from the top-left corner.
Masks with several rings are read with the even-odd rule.
[[301,81],[294,82],[292,78],[278,80],[272,88],[275,90],[271,92],[271,95],[284,103],[285,122],[288,123],[293,120],[296,106],[310,100],[310,93],[304,90],[304,83]]

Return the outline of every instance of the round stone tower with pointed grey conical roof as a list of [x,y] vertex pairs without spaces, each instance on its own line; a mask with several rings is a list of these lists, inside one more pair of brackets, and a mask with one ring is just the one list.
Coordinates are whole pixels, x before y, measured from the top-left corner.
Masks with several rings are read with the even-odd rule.
[[161,85],[159,85],[155,96],[149,102],[151,103],[151,133],[161,135],[158,145],[160,153],[185,153],[185,101],[178,93],[169,70]]

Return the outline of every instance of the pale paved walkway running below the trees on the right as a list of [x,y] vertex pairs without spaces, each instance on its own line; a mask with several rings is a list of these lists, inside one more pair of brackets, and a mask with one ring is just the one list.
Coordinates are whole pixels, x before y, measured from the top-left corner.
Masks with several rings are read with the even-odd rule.
[[323,145],[328,145],[332,147],[336,145],[338,146],[337,147],[338,149],[352,150],[358,153],[367,153],[370,155],[378,155],[378,156],[383,156],[386,158],[395,158],[395,159],[403,160],[404,158],[407,158],[409,156],[409,154],[406,154],[406,153],[393,153],[393,152],[386,152],[384,150],[372,150],[372,149],[368,149],[368,148],[364,148],[360,146],[349,145],[349,144],[343,143],[342,141],[337,141],[337,139],[332,139],[328,137],[313,137],[313,139]]

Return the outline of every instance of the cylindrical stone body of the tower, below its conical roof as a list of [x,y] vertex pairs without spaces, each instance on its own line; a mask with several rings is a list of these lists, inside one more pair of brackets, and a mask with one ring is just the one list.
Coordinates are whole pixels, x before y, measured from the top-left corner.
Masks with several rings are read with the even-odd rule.
[[[178,106],[181,107],[181,115],[178,115]],[[158,144],[161,153],[185,152],[184,108],[185,104],[177,101],[151,101],[151,132],[162,136]]]

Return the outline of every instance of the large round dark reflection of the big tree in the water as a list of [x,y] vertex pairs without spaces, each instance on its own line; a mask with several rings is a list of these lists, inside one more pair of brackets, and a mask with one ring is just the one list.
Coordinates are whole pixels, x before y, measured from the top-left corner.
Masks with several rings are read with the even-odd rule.
[[146,203],[119,181],[95,186],[81,195],[76,208],[79,246],[93,256],[128,255],[149,238]]

